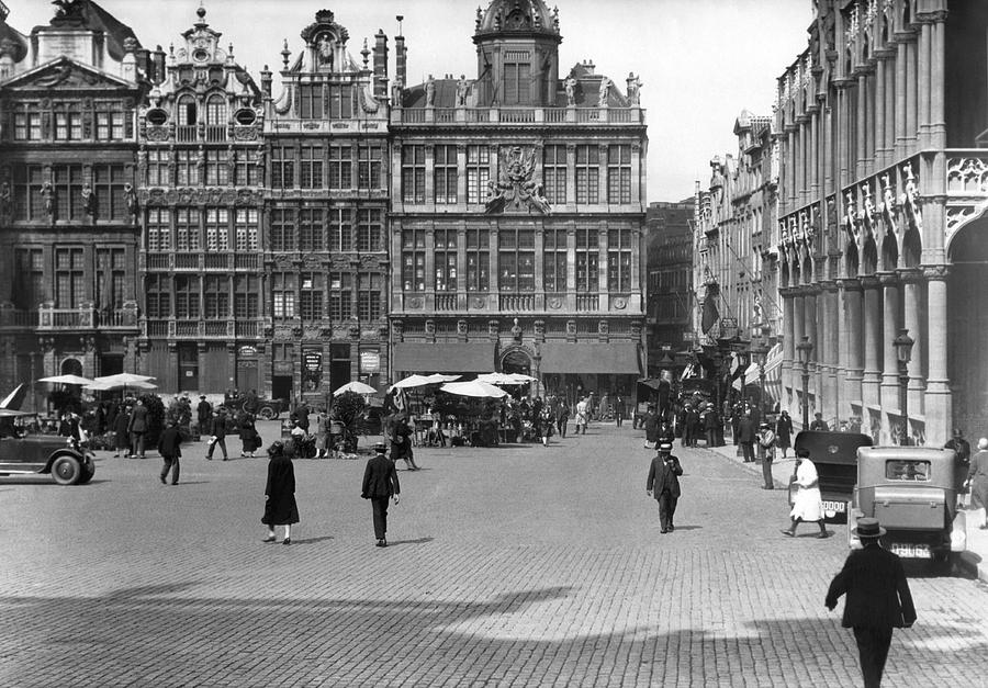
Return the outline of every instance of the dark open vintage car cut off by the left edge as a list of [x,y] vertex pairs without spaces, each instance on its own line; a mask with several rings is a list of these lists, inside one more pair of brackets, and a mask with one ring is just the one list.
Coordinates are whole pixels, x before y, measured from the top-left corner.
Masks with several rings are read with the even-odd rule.
[[13,425],[2,435],[0,475],[49,473],[59,485],[82,485],[96,474],[92,452],[69,438],[23,433]]

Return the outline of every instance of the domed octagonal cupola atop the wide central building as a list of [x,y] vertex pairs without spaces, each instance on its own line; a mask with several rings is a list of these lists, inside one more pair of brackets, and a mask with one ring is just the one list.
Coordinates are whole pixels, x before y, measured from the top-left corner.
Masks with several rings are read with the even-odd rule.
[[542,0],[492,0],[476,9],[478,105],[555,105],[559,10]]

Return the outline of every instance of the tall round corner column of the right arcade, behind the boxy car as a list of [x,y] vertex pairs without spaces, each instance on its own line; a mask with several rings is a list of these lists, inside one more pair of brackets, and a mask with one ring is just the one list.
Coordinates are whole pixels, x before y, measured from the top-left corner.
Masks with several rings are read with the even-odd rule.
[[946,365],[946,278],[948,269],[948,266],[923,266],[923,277],[927,279],[927,291],[929,294],[927,328],[930,332],[927,348],[929,369],[927,373],[924,413],[927,419],[927,444],[931,447],[942,447],[948,439],[953,413]]

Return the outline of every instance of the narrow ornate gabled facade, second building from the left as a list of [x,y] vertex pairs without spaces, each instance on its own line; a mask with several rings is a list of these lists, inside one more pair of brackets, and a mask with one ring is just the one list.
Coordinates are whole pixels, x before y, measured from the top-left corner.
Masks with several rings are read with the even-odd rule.
[[259,388],[260,90],[205,21],[156,53],[138,112],[139,369],[165,392]]

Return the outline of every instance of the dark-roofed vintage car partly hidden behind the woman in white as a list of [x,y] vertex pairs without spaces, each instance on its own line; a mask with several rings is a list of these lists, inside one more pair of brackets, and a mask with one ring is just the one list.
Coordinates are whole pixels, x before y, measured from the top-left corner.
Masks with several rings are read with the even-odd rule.
[[[857,450],[871,445],[871,437],[854,432],[804,430],[796,436],[793,448],[809,451],[810,460],[817,466],[826,520],[843,521],[847,518],[847,504],[857,481]],[[790,483],[789,506],[793,506],[795,496],[796,487]]]

